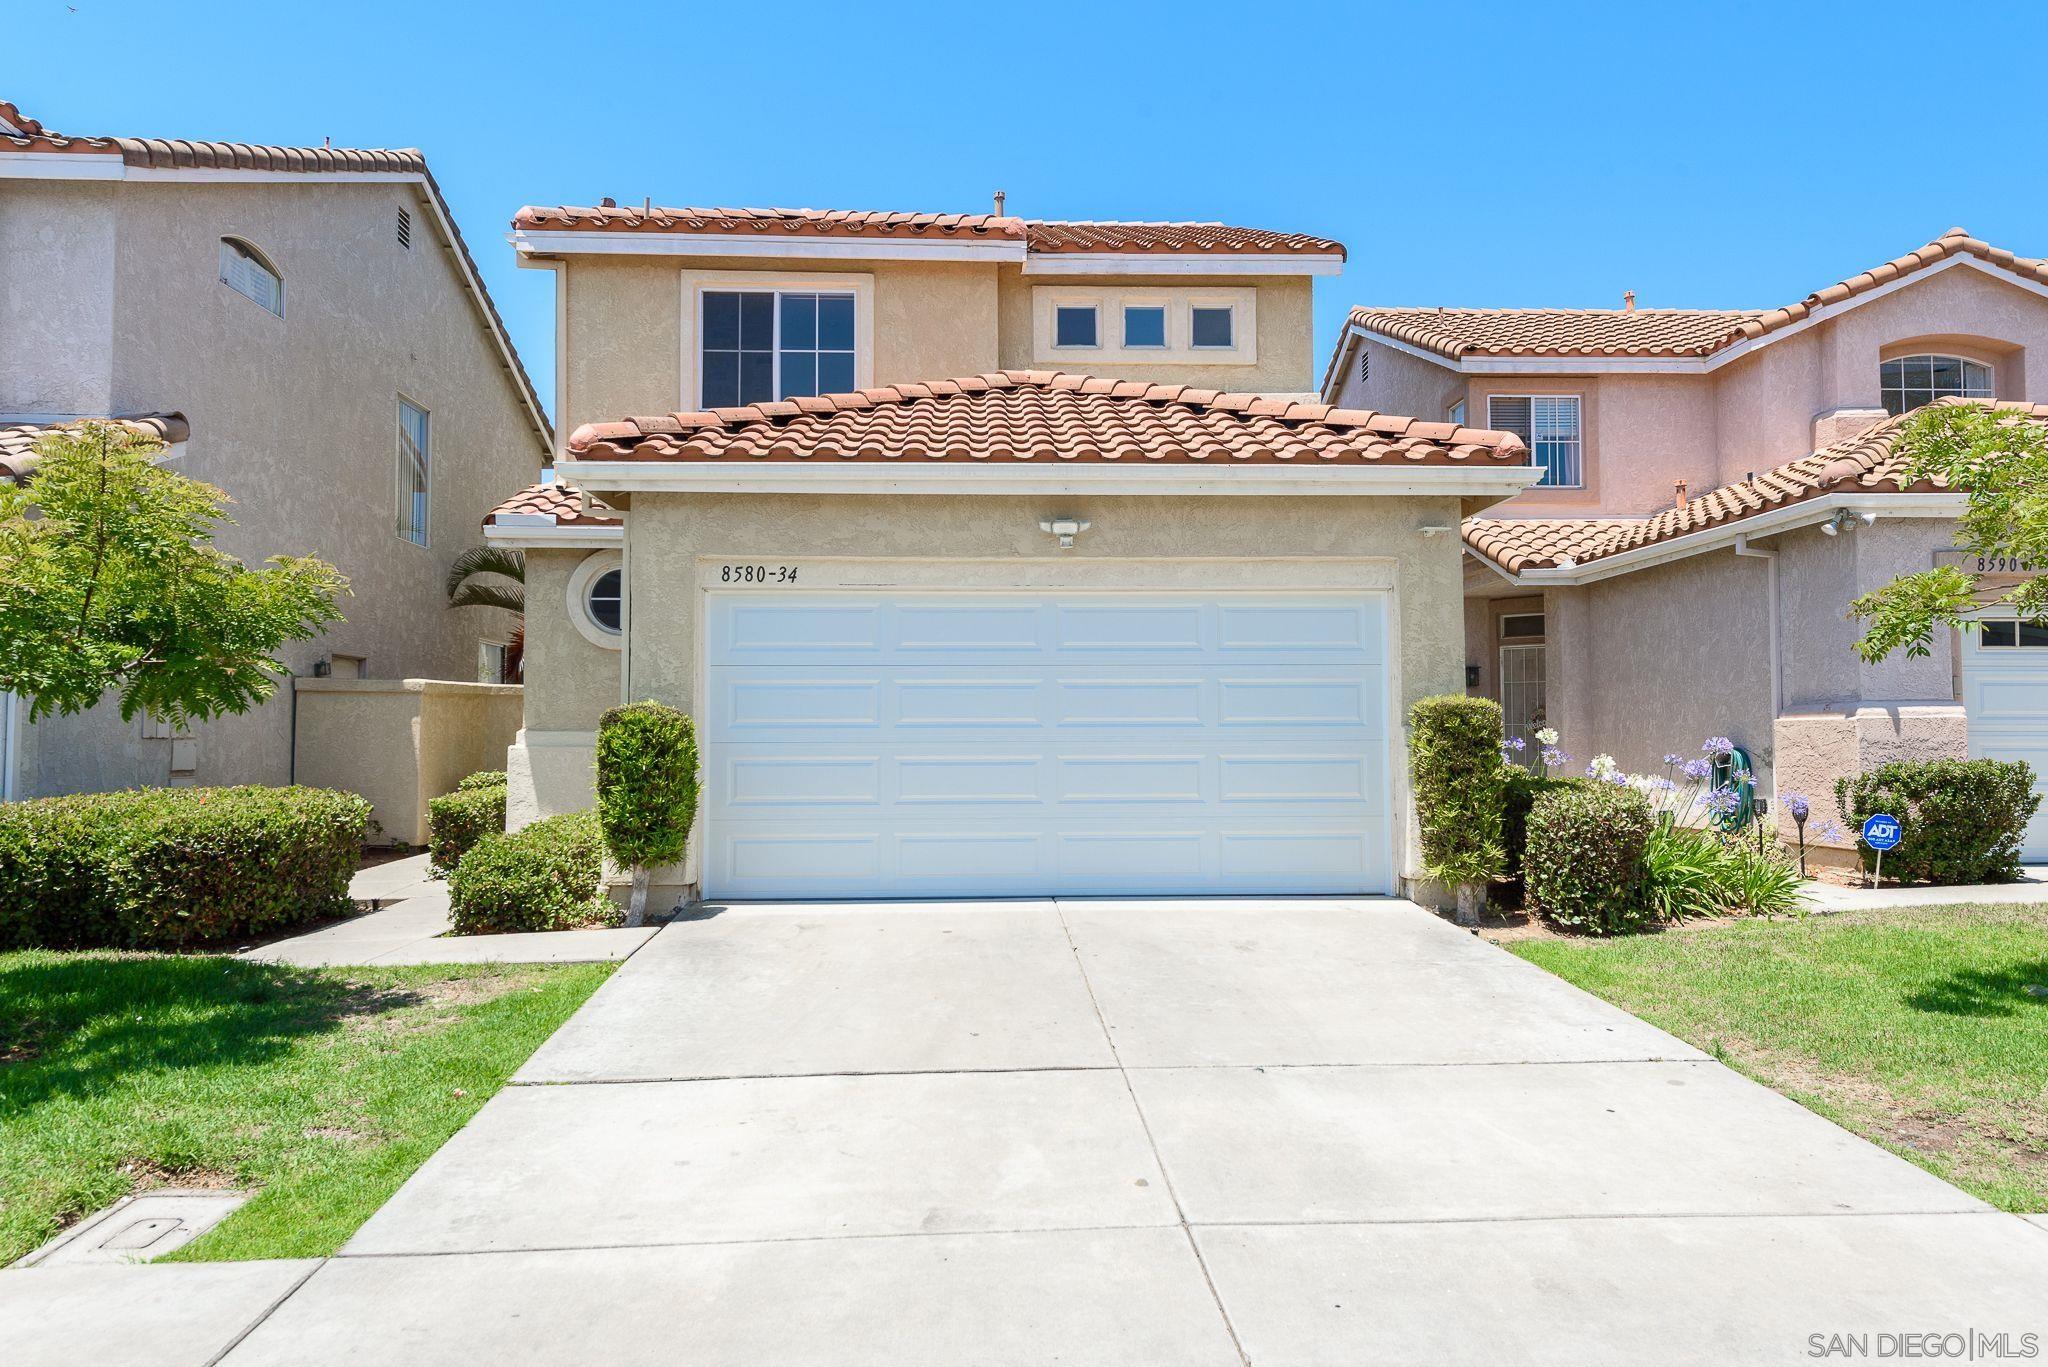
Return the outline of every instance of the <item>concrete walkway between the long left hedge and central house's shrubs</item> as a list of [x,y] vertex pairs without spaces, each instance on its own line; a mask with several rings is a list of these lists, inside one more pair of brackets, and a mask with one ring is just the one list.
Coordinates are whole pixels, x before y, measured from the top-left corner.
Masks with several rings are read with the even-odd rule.
[[610,963],[633,955],[657,926],[637,930],[541,930],[530,935],[449,935],[449,885],[428,877],[428,857],[412,855],[362,869],[348,883],[356,902],[381,910],[299,935],[244,959],[338,967],[354,963]]

